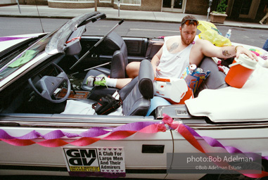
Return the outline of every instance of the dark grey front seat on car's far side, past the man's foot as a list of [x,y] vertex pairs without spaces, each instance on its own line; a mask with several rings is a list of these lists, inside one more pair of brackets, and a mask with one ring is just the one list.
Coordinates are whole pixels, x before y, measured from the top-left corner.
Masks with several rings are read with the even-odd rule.
[[87,72],[84,81],[82,82],[82,89],[91,91],[93,86],[87,86],[87,78],[89,76],[96,77],[97,75],[106,75],[110,78],[126,78],[127,60],[127,45],[124,39],[120,37],[116,32],[111,32],[105,39],[103,39],[104,47],[108,48],[108,51],[113,51],[113,57],[110,70],[107,68],[95,68]]

